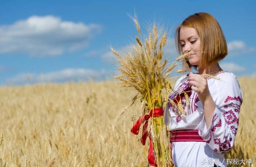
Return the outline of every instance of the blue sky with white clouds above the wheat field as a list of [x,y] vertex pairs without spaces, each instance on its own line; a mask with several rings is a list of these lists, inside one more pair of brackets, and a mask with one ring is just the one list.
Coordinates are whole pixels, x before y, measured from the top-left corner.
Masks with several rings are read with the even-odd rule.
[[137,35],[128,16],[136,12],[142,34],[148,25],[168,31],[165,54],[177,56],[173,30],[187,16],[212,14],[223,29],[225,71],[256,77],[255,1],[2,0],[0,85],[111,79],[116,72],[109,47],[123,52]]

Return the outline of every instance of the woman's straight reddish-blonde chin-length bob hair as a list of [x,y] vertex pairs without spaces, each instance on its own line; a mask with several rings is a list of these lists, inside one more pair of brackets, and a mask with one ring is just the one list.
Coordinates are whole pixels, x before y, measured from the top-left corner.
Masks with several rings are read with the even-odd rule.
[[[228,54],[227,43],[221,27],[218,21],[208,13],[193,14],[178,26],[175,32],[175,41],[179,54],[183,54],[180,43],[180,28],[182,26],[194,28],[199,35],[201,44],[199,67],[204,66],[207,69],[207,67],[222,60]],[[197,66],[191,65],[188,60],[183,60],[183,68],[189,71],[191,68],[197,70]]]

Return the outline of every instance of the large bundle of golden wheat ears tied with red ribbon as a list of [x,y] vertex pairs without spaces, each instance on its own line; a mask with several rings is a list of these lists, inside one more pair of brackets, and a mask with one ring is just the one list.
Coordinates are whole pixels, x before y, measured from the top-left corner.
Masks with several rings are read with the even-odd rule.
[[164,98],[166,94],[163,92],[172,89],[168,78],[177,64],[175,62],[170,64],[167,59],[163,59],[167,40],[166,31],[161,33],[161,38],[159,38],[159,29],[153,25],[148,39],[142,42],[139,38],[141,37],[140,25],[136,19],[133,21],[138,33],[138,36],[135,36],[137,45],[133,45],[133,52],[121,55],[111,48],[111,51],[118,57],[120,65],[118,70],[122,73],[116,78],[123,86],[133,87],[138,92],[123,112],[132,106],[136,99],[140,99],[142,102],[140,119],[137,120],[131,132],[139,135],[143,145],[149,137],[148,160],[150,165],[173,166],[169,130],[164,124],[163,108],[166,103],[166,98]]

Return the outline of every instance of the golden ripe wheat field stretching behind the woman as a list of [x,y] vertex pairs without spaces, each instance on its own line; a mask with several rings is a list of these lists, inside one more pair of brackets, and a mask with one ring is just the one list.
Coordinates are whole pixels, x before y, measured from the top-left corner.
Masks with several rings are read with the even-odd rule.
[[[251,159],[243,166],[254,166],[256,78],[239,82],[239,129],[226,158]],[[133,89],[91,81],[2,86],[0,94],[0,167],[147,166],[148,143],[142,146],[130,133],[140,103],[119,115],[135,96]]]

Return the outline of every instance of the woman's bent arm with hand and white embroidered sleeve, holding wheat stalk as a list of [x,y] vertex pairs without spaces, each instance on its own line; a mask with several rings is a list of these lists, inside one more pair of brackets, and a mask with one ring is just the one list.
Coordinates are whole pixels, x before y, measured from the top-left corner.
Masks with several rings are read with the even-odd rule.
[[234,144],[242,104],[242,92],[237,78],[235,75],[230,75],[220,81],[221,85],[216,85],[215,89],[218,89],[218,94],[215,94],[218,96],[216,101],[218,106],[216,106],[209,92],[207,80],[198,74],[190,76],[192,89],[198,93],[204,106],[204,120],[199,123],[199,135],[213,151],[218,153],[229,151]]

